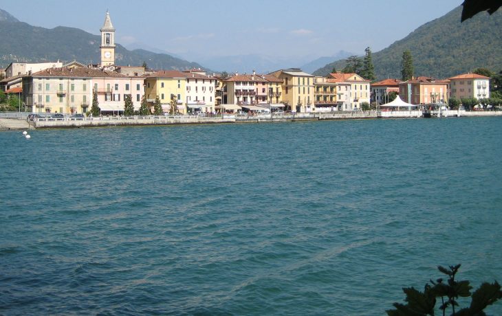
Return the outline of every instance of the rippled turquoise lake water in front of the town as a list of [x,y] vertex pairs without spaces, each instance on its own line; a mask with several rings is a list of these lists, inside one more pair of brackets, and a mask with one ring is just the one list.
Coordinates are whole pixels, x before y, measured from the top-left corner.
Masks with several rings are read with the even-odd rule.
[[502,282],[501,117],[30,135],[0,133],[1,315],[384,315],[438,264]]

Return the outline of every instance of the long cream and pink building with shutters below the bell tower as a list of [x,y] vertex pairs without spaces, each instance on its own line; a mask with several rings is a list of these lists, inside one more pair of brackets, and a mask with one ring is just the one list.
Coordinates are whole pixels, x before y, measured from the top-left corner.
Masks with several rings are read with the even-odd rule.
[[96,93],[103,114],[124,111],[124,96],[140,108],[143,78],[100,69],[50,68],[23,76],[23,100],[32,113],[86,113]]

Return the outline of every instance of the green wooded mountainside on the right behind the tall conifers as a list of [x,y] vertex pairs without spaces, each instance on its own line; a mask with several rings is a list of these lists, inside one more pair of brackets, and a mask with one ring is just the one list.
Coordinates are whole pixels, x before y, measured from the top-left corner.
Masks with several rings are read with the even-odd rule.
[[[377,78],[401,78],[402,53],[406,49],[413,56],[415,76],[448,78],[478,67],[500,71],[502,10],[491,16],[482,12],[463,23],[460,23],[461,11],[457,7],[380,52],[373,52]],[[326,76],[333,67],[342,69],[345,60],[329,63],[314,74]]]

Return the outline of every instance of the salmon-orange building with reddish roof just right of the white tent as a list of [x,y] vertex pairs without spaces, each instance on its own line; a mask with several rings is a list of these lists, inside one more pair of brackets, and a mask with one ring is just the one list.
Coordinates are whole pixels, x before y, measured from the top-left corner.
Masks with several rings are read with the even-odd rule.
[[400,82],[401,100],[411,104],[448,104],[448,80],[419,76]]

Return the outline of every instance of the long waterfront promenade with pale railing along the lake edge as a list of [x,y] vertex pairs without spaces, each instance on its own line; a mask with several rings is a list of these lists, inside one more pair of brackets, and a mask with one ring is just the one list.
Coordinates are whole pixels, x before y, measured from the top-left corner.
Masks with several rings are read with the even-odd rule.
[[[27,114],[27,113],[21,113]],[[433,111],[433,117],[472,117],[502,116],[502,111]],[[364,120],[377,118],[420,118],[422,111],[336,111],[329,113],[296,113],[281,115],[232,115],[226,114],[206,117],[201,115],[147,115],[147,116],[102,116],[102,117],[39,117],[32,122],[26,115],[0,117],[0,129],[26,128],[82,128],[100,126],[147,126],[178,124],[221,124],[221,123],[260,123],[260,122],[298,122],[323,120]]]

